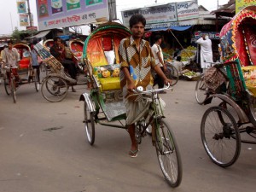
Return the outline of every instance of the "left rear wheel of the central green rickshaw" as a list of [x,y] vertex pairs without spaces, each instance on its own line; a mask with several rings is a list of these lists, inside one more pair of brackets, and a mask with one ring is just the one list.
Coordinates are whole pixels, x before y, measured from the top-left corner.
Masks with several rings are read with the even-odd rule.
[[93,145],[95,141],[95,123],[93,113],[89,111],[86,102],[84,102],[84,127],[88,142],[90,143],[90,145]]

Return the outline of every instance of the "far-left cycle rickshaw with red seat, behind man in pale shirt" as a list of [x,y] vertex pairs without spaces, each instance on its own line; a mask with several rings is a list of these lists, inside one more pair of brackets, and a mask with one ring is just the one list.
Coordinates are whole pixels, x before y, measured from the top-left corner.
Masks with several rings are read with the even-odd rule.
[[[27,44],[14,44],[14,48],[18,50],[20,55],[19,66],[20,67],[4,67],[3,71],[3,81],[4,89],[7,95],[13,96],[13,101],[17,101],[16,91],[20,88],[22,84],[30,84],[33,82],[35,89],[38,92],[39,83],[38,76],[35,69],[32,69],[30,61],[30,47]],[[15,79],[15,73],[18,74],[20,81],[17,82]]]

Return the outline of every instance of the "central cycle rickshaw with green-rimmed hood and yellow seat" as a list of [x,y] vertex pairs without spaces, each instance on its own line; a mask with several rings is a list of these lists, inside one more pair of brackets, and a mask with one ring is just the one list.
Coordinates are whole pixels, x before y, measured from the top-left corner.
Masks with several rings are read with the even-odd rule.
[[[90,145],[95,142],[96,124],[126,129],[126,110],[119,82],[118,49],[121,39],[130,36],[131,32],[125,26],[109,21],[98,26],[84,42],[83,59],[88,67],[92,90],[89,94],[81,95],[80,101],[84,101],[84,126]],[[181,158],[172,130],[160,108],[157,94],[160,90],[142,90],[141,93],[149,94],[152,98],[152,109],[149,109],[148,118],[137,121],[136,138],[137,143],[141,143],[142,137],[146,136],[146,128],[154,123],[155,148],[160,168],[167,182],[177,187],[182,179]],[[149,122],[151,117],[153,119]]]

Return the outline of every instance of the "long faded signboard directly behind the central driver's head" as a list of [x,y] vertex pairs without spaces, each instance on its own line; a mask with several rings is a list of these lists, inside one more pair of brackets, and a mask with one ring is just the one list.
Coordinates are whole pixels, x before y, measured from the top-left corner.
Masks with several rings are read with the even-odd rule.
[[177,21],[175,3],[122,11],[124,25],[129,26],[131,16],[136,14],[142,14],[147,20],[147,25]]

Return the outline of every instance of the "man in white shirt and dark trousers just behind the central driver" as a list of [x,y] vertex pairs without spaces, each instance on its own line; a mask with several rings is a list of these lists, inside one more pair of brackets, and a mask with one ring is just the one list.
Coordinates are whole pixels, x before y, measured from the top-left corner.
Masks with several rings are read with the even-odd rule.
[[[162,37],[160,35],[156,35],[154,37],[154,44],[151,47],[152,49],[152,53],[154,55],[154,59],[155,59],[155,64],[159,65],[161,70],[163,71],[163,73],[166,72],[166,64],[164,62],[164,55],[163,55],[163,51],[160,48],[160,44],[162,43]],[[158,84],[158,89],[161,89],[164,87],[164,80],[161,79],[161,77],[156,74],[154,77],[154,85]],[[166,93],[165,90],[160,91],[160,93]]]

